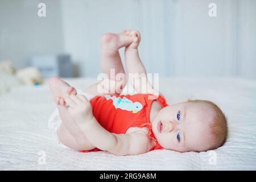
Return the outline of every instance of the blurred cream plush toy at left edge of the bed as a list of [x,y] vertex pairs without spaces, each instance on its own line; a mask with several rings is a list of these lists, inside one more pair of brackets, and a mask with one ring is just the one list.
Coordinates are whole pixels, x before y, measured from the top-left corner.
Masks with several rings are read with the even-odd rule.
[[35,67],[27,67],[16,70],[13,65],[11,65],[10,61],[1,61],[0,72],[9,73],[26,85],[38,86],[43,84],[43,77],[41,76],[39,70]]

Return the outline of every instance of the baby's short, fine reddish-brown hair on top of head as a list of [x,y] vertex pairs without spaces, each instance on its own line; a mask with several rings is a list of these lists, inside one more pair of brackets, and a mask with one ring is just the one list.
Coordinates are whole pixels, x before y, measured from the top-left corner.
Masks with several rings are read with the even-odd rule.
[[195,102],[195,103],[203,103],[212,107],[215,114],[213,117],[213,122],[210,124],[210,130],[212,131],[214,140],[216,140],[216,144],[214,144],[214,146],[209,148],[209,150],[214,150],[222,146],[226,142],[226,138],[228,137],[228,125],[227,125],[227,118],[225,114],[221,111],[220,107],[218,107],[212,101],[208,101],[208,100],[187,100],[187,101]]

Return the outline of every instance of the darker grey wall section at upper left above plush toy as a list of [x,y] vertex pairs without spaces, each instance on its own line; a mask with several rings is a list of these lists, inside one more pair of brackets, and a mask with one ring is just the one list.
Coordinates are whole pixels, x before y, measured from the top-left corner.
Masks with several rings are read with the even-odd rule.
[[[46,3],[43,18],[38,16],[40,2]],[[23,68],[31,55],[63,52],[60,10],[59,0],[1,0],[0,60]]]

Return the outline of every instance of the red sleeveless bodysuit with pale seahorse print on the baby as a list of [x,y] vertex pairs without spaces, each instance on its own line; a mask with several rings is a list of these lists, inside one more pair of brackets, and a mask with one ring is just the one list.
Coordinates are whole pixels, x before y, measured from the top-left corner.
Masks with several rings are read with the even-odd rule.
[[[151,97],[151,98],[150,98]],[[154,99],[152,99],[154,97]],[[147,127],[148,137],[155,140],[151,150],[163,149],[152,133],[150,109],[156,100],[162,107],[168,106],[165,98],[159,94],[106,95],[90,100],[93,115],[104,129],[110,133],[125,134],[130,127]],[[98,148],[81,152],[100,151]]]

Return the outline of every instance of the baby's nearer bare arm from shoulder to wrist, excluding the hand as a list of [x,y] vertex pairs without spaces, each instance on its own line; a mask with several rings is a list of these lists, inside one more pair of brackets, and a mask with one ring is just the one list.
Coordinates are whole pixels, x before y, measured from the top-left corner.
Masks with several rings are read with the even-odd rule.
[[[115,155],[137,155],[150,151],[150,138],[146,133],[114,134],[105,130],[95,118],[81,126],[95,147]],[[143,131],[142,131],[143,132]]]

